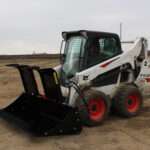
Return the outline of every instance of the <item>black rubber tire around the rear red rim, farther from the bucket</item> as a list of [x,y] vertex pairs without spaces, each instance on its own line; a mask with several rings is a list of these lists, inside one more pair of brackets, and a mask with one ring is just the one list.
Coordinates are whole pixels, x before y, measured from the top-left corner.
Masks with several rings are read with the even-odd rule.
[[[139,97],[139,107],[136,111],[130,112],[126,107],[126,100],[132,93],[136,93]],[[118,88],[112,103],[113,111],[122,117],[130,118],[139,114],[143,105],[143,97],[139,89],[135,85],[123,85]]]

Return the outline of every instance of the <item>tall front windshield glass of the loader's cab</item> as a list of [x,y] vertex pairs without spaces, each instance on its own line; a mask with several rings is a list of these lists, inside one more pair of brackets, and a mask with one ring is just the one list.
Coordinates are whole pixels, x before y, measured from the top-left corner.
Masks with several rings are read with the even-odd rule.
[[85,38],[81,36],[71,37],[66,42],[64,50],[63,72],[67,77],[72,77],[79,71],[79,59],[82,56]]

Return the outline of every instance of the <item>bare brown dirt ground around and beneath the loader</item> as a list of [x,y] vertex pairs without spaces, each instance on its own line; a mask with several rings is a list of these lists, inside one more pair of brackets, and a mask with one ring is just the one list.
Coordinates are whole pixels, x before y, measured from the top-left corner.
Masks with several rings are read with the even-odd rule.
[[[0,60],[0,108],[10,104],[23,90],[18,72],[8,63],[54,66],[56,60]],[[80,135],[33,137],[0,118],[0,150],[149,150],[150,101],[146,100],[138,117],[123,119],[115,115],[95,128],[84,128]]]

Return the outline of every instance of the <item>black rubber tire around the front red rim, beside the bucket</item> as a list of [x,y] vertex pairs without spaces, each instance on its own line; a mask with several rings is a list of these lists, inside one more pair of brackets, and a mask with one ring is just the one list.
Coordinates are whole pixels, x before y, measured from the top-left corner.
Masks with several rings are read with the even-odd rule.
[[92,120],[90,117],[89,117],[89,112],[87,110],[87,107],[83,106],[84,103],[83,101],[81,100],[81,98],[77,98],[77,101],[76,101],[76,106],[79,108],[79,113],[80,113],[80,116],[81,116],[81,120],[83,122],[83,124],[85,126],[89,126],[89,127],[93,127],[93,126],[98,126],[100,124],[102,124],[104,122],[104,120],[107,118],[108,114],[109,114],[109,111],[110,111],[110,99],[108,96],[106,96],[104,93],[102,92],[99,92],[99,91],[95,91],[95,90],[92,90],[92,89],[89,89],[89,90],[86,90],[84,91],[84,98],[86,100],[86,103],[88,103],[88,101],[90,99],[97,99],[101,97],[103,100],[104,100],[104,103],[105,103],[105,113],[103,115],[103,117],[100,119],[100,120]]

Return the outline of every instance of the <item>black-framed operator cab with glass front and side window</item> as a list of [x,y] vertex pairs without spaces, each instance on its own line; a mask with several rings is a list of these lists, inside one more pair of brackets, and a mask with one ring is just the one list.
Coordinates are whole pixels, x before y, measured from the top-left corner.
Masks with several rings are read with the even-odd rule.
[[114,33],[81,30],[63,32],[62,36],[65,41],[61,54],[63,79],[122,53],[119,36]]

